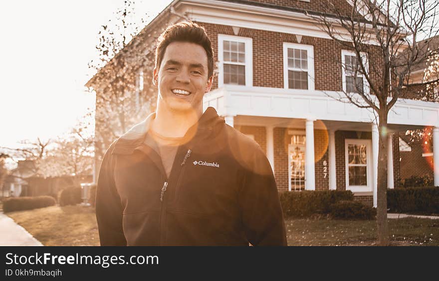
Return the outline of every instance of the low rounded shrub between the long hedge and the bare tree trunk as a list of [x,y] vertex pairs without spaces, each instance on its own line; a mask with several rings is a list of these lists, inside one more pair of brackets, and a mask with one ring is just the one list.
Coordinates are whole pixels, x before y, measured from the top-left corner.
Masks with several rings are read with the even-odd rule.
[[377,215],[377,211],[358,201],[339,201],[331,205],[329,214],[333,219],[372,220]]

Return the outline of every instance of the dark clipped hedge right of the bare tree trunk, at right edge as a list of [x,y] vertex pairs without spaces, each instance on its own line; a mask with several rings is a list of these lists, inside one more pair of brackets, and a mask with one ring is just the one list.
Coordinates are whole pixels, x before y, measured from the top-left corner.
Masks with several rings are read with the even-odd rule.
[[439,214],[439,187],[389,189],[387,208],[389,212]]

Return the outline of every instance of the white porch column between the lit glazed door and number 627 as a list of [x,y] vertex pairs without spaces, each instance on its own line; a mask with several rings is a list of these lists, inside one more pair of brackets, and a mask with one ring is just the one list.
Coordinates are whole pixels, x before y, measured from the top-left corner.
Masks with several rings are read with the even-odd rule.
[[315,190],[314,120],[306,120],[305,139],[305,190]]

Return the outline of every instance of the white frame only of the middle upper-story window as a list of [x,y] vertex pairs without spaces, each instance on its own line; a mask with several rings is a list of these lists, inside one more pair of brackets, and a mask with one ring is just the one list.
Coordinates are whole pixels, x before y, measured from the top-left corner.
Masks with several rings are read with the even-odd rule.
[[[288,88],[288,49],[299,49],[307,51],[308,55],[308,90],[290,89]],[[288,90],[314,91],[315,75],[314,75],[314,46],[296,43],[283,42],[283,88]]]

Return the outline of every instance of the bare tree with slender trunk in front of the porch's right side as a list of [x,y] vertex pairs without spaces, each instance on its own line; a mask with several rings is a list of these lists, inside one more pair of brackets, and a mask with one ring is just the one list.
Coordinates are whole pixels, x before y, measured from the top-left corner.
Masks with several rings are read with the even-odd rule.
[[[380,245],[389,244],[387,225],[388,113],[409,83],[414,69],[425,67],[429,44],[420,36],[436,35],[438,2],[434,0],[350,0],[342,10],[327,0],[326,11],[307,12],[342,49],[355,53],[341,59],[349,75],[340,100],[372,109],[379,130],[377,234]],[[368,61],[370,58],[371,61]],[[373,60],[372,60],[373,59]],[[343,61],[343,63],[342,63]],[[438,82],[430,80],[429,83]]]

